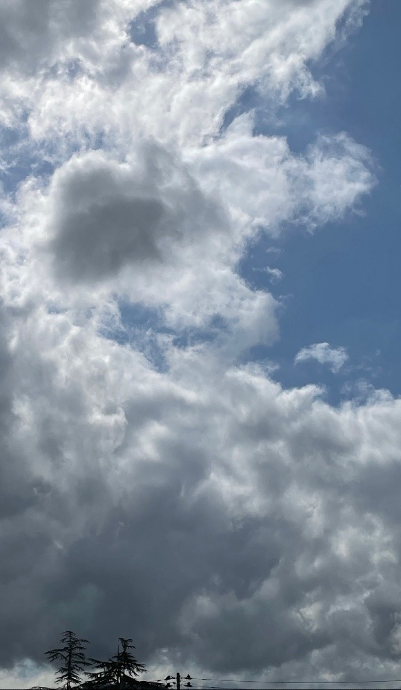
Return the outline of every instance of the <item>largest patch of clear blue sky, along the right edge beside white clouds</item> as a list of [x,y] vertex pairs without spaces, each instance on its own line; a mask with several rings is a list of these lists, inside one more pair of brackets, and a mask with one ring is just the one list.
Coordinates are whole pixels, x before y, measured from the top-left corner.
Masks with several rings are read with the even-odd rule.
[[[333,400],[345,395],[344,375],[350,390],[362,378],[401,393],[400,23],[399,0],[376,0],[347,46],[315,68],[317,77],[326,75],[325,97],[295,94],[276,124],[270,121],[262,130],[262,117],[257,121],[265,134],[285,135],[293,152],[303,152],[319,132],[345,131],[368,147],[380,166],[379,184],[364,197],[362,215],[349,213],[312,237],[290,228],[273,243],[280,253],[267,254],[272,243],[262,236],[239,266],[255,287],[287,296],[280,342],[253,348],[248,359],[273,359],[280,365],[275,378],[285,386],[327,385]],[[267,265],[283,273],[276,285],[254,270]],[[296,353],[316,342],[346,347],[349,367],[333,374],[316,362],[294,366]]]

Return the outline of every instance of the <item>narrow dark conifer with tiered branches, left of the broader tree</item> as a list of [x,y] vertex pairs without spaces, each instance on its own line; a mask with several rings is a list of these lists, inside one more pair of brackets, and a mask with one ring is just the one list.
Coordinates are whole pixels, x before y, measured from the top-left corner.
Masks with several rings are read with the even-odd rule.
[[84,650],[89,644],[88,640],[80,640],[75,633],[67,630],[61,635],[61,644],[64,646],[60,649],[50,649],[45,654],[49,661],[61,660],[63,665],[59,667],[57,674],[57,683],[66,683],[66,690],[70,690],[72,684],[81,682],[79,673],[84,672],[86,666],[90,666],[85,658]]

